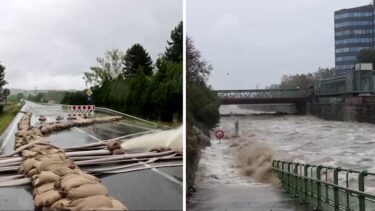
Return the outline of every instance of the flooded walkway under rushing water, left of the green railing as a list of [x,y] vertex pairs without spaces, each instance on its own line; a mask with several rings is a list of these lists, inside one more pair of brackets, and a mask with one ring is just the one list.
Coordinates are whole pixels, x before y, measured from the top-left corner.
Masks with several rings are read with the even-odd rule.
[[298,204],[282,189],[261,183],[244,173],[236,151],[241,138],[228,135],[202,150],[196,176],[196,191],[187,200],[188,210],[299,210],[308,207]]

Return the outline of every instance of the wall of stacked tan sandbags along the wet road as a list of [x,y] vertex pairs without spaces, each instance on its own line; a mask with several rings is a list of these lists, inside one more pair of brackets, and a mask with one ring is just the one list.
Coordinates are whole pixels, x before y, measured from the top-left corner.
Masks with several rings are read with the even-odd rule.
[[[62,149],[48,144],[43,138],[43,134],[66,125],[31,127],[31,116],[31,113],[26,113],[19,122],[15,147],[30,146],[21,151],[23,162],[19,173],[32,179],[35,207],[55,210],[127,210],[120,201],[108,196],[107,188],[98,178],[80,170]],[[107,118],[105,121],[113,119]],[[87,122],[84,120],[73,124]]]

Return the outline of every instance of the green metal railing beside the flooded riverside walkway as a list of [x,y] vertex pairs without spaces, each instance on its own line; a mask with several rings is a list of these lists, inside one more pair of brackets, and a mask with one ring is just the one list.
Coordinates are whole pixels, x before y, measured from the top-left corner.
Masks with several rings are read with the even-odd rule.
[[278,160],[272,167],[286,192],[314,210],[375,211],[375,195],[365,191],[374,173]]

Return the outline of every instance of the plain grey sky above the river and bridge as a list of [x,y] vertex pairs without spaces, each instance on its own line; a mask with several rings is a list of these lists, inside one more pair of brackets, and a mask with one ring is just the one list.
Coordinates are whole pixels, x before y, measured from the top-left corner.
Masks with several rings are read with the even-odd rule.
[[334,11],[370,0],[188,0],[187,33],[215,89],[264,88],[334,67]]

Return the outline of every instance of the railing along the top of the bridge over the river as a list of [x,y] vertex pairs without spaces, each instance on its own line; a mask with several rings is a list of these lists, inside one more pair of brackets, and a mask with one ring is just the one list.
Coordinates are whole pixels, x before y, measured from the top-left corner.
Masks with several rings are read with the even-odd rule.
[[219,98],[282,98],[306,97],[303,89],[254,89],[254,90],[216,90]]

